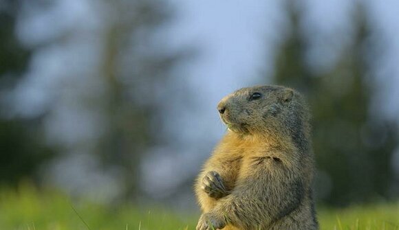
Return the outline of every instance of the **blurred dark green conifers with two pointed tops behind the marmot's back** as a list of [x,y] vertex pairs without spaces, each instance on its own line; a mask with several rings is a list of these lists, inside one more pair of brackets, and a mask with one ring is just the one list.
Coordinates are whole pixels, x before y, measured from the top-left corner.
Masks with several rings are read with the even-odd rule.
[[[380,113],[371,112],[373,88],[369,34],[361,5],[354,16],[354,35],[341,59],[325,73],[314,73],[305,65],[306,41],[299,27],[300,11],[289,1],[290,36],[277,54],[274,82],[299,89],[308,97],[313,112],[314,152],[322,174],[319,191],[332,187],[322,201],[347,205],[388,197],[393,181],[391,155],[398,146],[395,127]],[[367,44],[367,49],[365,49]],[[323,58],[323,57],[319,57]],[[368,77],[367,77],[368,76]]]

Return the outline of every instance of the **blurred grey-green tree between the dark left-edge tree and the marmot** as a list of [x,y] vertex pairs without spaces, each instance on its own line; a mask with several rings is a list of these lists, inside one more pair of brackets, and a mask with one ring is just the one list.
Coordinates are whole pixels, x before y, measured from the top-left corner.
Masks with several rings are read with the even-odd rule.
[[123,199],[140,194],[140,160],[162,137],[162,85],[184,55],[152,47],[151,36],[171,17],[170,9],[164,6],[158,0],[120,0],[110,5],[116,20],[105,31],[100,63],[107,84],[100,105],[107,129],[98,139],[97,151],[105,166],[121,170]]

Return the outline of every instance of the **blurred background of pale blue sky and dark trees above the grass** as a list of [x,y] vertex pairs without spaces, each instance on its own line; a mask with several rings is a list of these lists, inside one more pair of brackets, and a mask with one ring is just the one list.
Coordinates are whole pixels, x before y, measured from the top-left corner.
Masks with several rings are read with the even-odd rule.
[[399,3],[0,0],[0,186],[197,210],[217,102],[312,108],[319,203],[399,196]]

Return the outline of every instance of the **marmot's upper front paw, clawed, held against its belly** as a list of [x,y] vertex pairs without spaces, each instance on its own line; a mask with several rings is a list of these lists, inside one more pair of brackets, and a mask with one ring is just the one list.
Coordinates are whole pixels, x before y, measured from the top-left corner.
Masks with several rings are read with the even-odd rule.
[[212,198],[222,198],[228,194],[222,178],[215,171],[208,172],[204,176],[204,179],[202,179],[202,189]]

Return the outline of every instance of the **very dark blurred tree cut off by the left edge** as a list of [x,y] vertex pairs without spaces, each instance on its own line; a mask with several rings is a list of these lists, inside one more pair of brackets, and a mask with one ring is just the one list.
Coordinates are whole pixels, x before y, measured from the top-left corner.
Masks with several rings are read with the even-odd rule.
[[39,182],[38,171],[52,157],[37,124],[40,117],[21,119],[8,111],[6,92],[21,80],[30,58],[14,35],[20,1],[0,2],[0,184],[18,185],[21,180]]

